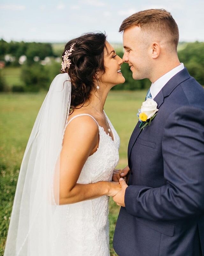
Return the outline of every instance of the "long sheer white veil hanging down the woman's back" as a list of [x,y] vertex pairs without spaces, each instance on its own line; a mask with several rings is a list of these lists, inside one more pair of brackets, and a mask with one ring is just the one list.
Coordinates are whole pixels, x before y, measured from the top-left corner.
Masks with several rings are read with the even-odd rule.
[[25,149],[4,256],[68,255],[62,246],[68,205],[59,205],[59,160],[70,100],[70,78],[67,73],[59,74],[50,85]]

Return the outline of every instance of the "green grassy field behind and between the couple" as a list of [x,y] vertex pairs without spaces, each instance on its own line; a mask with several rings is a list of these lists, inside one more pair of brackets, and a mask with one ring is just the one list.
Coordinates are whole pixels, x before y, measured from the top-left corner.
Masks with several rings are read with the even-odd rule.
[[[127,165],[128,140],[137,123],[136,113],[144,91],[110,92],[105,110],[120,135],[120,162]],[[45,98],[39,94],[0,94],[0,256],[3,255],[16,183],[25,146],[35,118]],[[110,252],[119,207],[110,200]]]

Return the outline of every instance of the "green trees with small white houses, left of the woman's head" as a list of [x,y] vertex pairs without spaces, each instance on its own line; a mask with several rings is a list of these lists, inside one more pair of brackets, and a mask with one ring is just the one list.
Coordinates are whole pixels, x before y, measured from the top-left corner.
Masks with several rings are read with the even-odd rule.
[[[21,63],[19,60],[23,58]],[[14,42],[10,43],[0,40],[0,61],[5,66],[20,66],[20,80],[22,85],[6,85],[3,69],[0,70],[0,91],[13,92],[39,92],[47,90],[53,78],[60,73],[61,65],[55,59],[52,44],[36,42]],[[48,59],[48,60],[46,60]],[[42,62],[44,62],[42,64]]]

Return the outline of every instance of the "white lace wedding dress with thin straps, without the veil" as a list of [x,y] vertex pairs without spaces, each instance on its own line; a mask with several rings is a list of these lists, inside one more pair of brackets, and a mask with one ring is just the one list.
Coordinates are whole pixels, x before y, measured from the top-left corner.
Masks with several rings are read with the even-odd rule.
[[[90,116],[89,114],[77,116],[82,115]],[[69,122],[77,116],[71,118]],[[88,157],[77,183],[87,184],[112,180],[113,170],[119,161],[120,138],[108,117],[107,120],[114,140],[106,134],[103,127],[98,125],[98,149]],[[64,244],[61,244],[60,248],[53,248],[53,251],[59,255],[69,256],[109,256],[108,201],[108,196],[101,196],[58,207],[57,211],[64,211],[61,225],[63,225],[62,230],[66,231],[62,233],[59,227],[56,244],[61,244],[60,241],[64,241]],[[64,228],[64,225],[67,228]]]

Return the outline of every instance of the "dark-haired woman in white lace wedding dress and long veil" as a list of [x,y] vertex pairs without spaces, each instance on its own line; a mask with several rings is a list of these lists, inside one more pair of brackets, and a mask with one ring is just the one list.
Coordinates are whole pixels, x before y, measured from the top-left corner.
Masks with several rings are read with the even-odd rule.
[[21,164],[4,256],[108,256],[120,139],[104,112],[125,79],[103,33],[69,41]]

